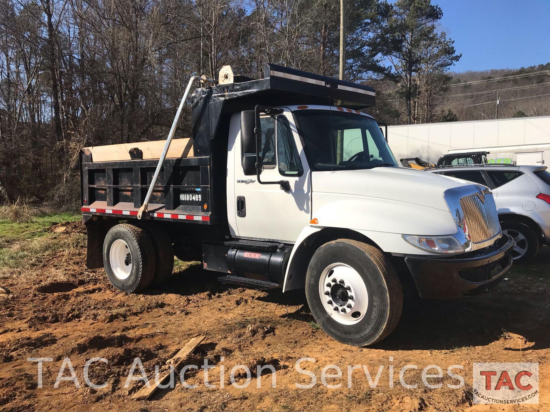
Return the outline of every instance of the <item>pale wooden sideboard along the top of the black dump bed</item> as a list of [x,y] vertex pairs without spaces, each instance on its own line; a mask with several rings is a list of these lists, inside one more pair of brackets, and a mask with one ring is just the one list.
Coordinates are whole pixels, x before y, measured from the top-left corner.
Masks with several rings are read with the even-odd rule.
[[[143,152],[143,159],[160,159],[165,140],[154,142],[109,144],[108,146],[85,147],[92,153],[92,162],[114,162],[115,160],[131,160],[130,149],[137,147]],[[167,159],[193,157],[193,139],[173,139],[166,154]]]

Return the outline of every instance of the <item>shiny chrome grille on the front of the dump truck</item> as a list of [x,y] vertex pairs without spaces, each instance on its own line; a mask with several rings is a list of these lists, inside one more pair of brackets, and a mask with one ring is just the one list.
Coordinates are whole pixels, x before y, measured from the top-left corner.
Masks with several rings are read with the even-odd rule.
[[472,243],[485,242],[498,235],[500,224],[492,193],[475,193],[460,198],[460,206]]

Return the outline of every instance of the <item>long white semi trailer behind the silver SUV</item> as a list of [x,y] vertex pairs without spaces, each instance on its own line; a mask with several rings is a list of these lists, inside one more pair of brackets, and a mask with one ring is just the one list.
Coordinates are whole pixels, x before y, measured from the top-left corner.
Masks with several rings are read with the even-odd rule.
[[485,151],[489,163],[550,164],[550,116],[388,126],[387,137],[397,159]]

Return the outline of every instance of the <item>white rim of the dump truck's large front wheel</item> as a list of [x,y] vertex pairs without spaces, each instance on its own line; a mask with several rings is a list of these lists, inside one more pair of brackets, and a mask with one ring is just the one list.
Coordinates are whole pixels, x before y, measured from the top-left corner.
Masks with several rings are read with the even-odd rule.
[[368,292],[365,281],[345,263],[333,263],[323,270],[319,296],[323,308],[339,324],[355,325],[367,313]]

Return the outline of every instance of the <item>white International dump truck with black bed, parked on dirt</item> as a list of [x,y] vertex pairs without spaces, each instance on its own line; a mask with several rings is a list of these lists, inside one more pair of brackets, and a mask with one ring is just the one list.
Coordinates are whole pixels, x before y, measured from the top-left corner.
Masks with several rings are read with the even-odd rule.
[[[173,139],[190,97],[192,136]],[[81,151],[88,268],[136,293],[199,260],[218,280],[305,288],[318,325],[367,346],[404,294],[487,291],[511,265],[487,187],[400,168],[364,109],[373,88],[266,64],[193,76],[166,142]],[[185,276],[180,281],[185,282]]]

